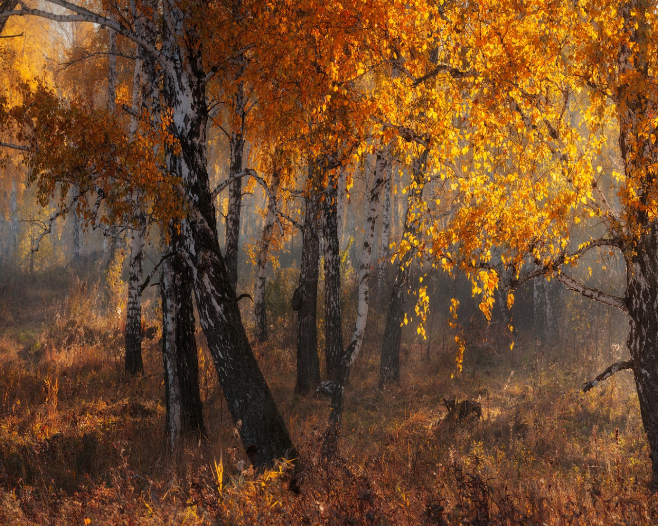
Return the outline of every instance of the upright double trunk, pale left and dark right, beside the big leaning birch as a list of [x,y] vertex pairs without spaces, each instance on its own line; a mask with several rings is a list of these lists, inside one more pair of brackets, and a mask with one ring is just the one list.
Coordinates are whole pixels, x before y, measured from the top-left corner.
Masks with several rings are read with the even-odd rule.
[[190,268],[183,258],[176,255],[164,260],[160,290],[166,433],[170,452],[176,450],[182,438],[198,439],[203,435],[192,289]]

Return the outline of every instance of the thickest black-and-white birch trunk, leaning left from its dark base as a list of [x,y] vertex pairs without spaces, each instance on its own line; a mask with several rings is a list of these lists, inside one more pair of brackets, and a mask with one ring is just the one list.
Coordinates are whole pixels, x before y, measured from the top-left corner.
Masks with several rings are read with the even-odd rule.
[[217,241],[215,206],[207,172],[205,71],[203,46],[184,20],[201,16],[199,1],[182,5],[164,0],[164,99],[172,119],[169,131],[180,144],[168,147],[167,162],[180,177],[187,216],[181,221],[184,254],[193,275],[194,293],[219,383],[251,462],[263,468],[274,460],[297,456],[286,423],[261,373],[240,318],[235,289]]

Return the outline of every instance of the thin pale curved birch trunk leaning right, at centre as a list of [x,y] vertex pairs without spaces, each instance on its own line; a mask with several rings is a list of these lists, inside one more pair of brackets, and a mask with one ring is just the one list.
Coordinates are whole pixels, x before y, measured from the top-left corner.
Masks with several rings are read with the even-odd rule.
[[372,241],[374,240],[374,229],[377,223],[377,210],[379,198],[386,179],[386,164],[390,162],[389,156],[392,143],[377,153],[375,162],[374,183],[370,189],[370,202],[368,204],[368,215],[366,218],[365,232],[363,234],[363,246],[361,247],[361,262],[359,263],[359,302],[357,304],[357,320],[352,333],[351,341],[343,353],[340,368],[336,377],[329,412],[329,425],[324,435],[323,454],[326,458],[332,458],[338,450],[338,433],[343,418],[343,406],[345,404],[345,388],[351,370],[363,342],[366,322],[368,320],[368,289],[370,281],[370,262],[372,260]]

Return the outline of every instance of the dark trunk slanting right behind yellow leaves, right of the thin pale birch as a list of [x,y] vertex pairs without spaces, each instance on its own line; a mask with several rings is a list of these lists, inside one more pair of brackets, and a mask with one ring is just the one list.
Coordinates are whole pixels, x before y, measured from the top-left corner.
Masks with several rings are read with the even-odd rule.
[[[420,154],[415,160],[413,167],[413,190],[409,194],[409,204],[405,216],[405,226],[402,239],[416,232],[414,226],[415,207],[422,201],[423,171],[427,162],[427,150]],[[413,247],[413,245],[411,245]],[[409,295],[409,269],[411,260],[415,254],[413,248],[400,258],[395,268],[395,280],[391,289],[391,299],[386,313],[386,325],[384,325],[384,338],[382,339],[382,357],[379,369],[380,388],[387,383],[400,380],[400,342],[402,338],[402,324],[405,317],[405,304]]]

